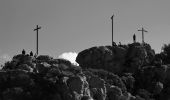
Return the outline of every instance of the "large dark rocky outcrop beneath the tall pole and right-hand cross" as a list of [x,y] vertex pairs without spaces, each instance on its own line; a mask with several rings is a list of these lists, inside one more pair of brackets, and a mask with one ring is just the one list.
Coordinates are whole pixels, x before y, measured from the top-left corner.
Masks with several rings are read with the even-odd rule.
[[76,61],[83,68],[105,69],[116,74],[124,71],[134,73],[150,64],[155,56],[150,45],[133,43],[127,46],[99,46],[80,52]]

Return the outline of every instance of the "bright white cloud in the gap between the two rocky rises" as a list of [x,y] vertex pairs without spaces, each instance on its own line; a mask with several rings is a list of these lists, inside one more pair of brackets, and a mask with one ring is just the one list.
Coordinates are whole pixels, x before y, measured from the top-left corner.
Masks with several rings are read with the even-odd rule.
[[76,52],[65,52],[58,56],[58,58],[63,58],[69,60],[74,65],[78,65],[76,62],[77,53]]

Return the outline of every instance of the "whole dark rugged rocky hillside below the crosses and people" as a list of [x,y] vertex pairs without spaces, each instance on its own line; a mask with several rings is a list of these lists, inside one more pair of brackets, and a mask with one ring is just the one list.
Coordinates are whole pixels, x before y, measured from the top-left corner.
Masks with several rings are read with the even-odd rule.
[[0,100],[170,99],[170,65],[148,44],[92,47],[76,61],[14,56],[0,70]]

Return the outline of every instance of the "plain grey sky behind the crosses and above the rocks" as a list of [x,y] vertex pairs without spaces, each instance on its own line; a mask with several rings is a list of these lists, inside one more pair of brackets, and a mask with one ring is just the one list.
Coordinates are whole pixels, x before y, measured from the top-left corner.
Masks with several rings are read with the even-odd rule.
[[[93,46],[111,45],[111,16],[114,41],[132,43],[133,34],[156,52],[170,43],[170,0],[0,0],[0,58],[13,57],[25,49],[58,57]],[[5,57],[3,56],[5,55]]]

